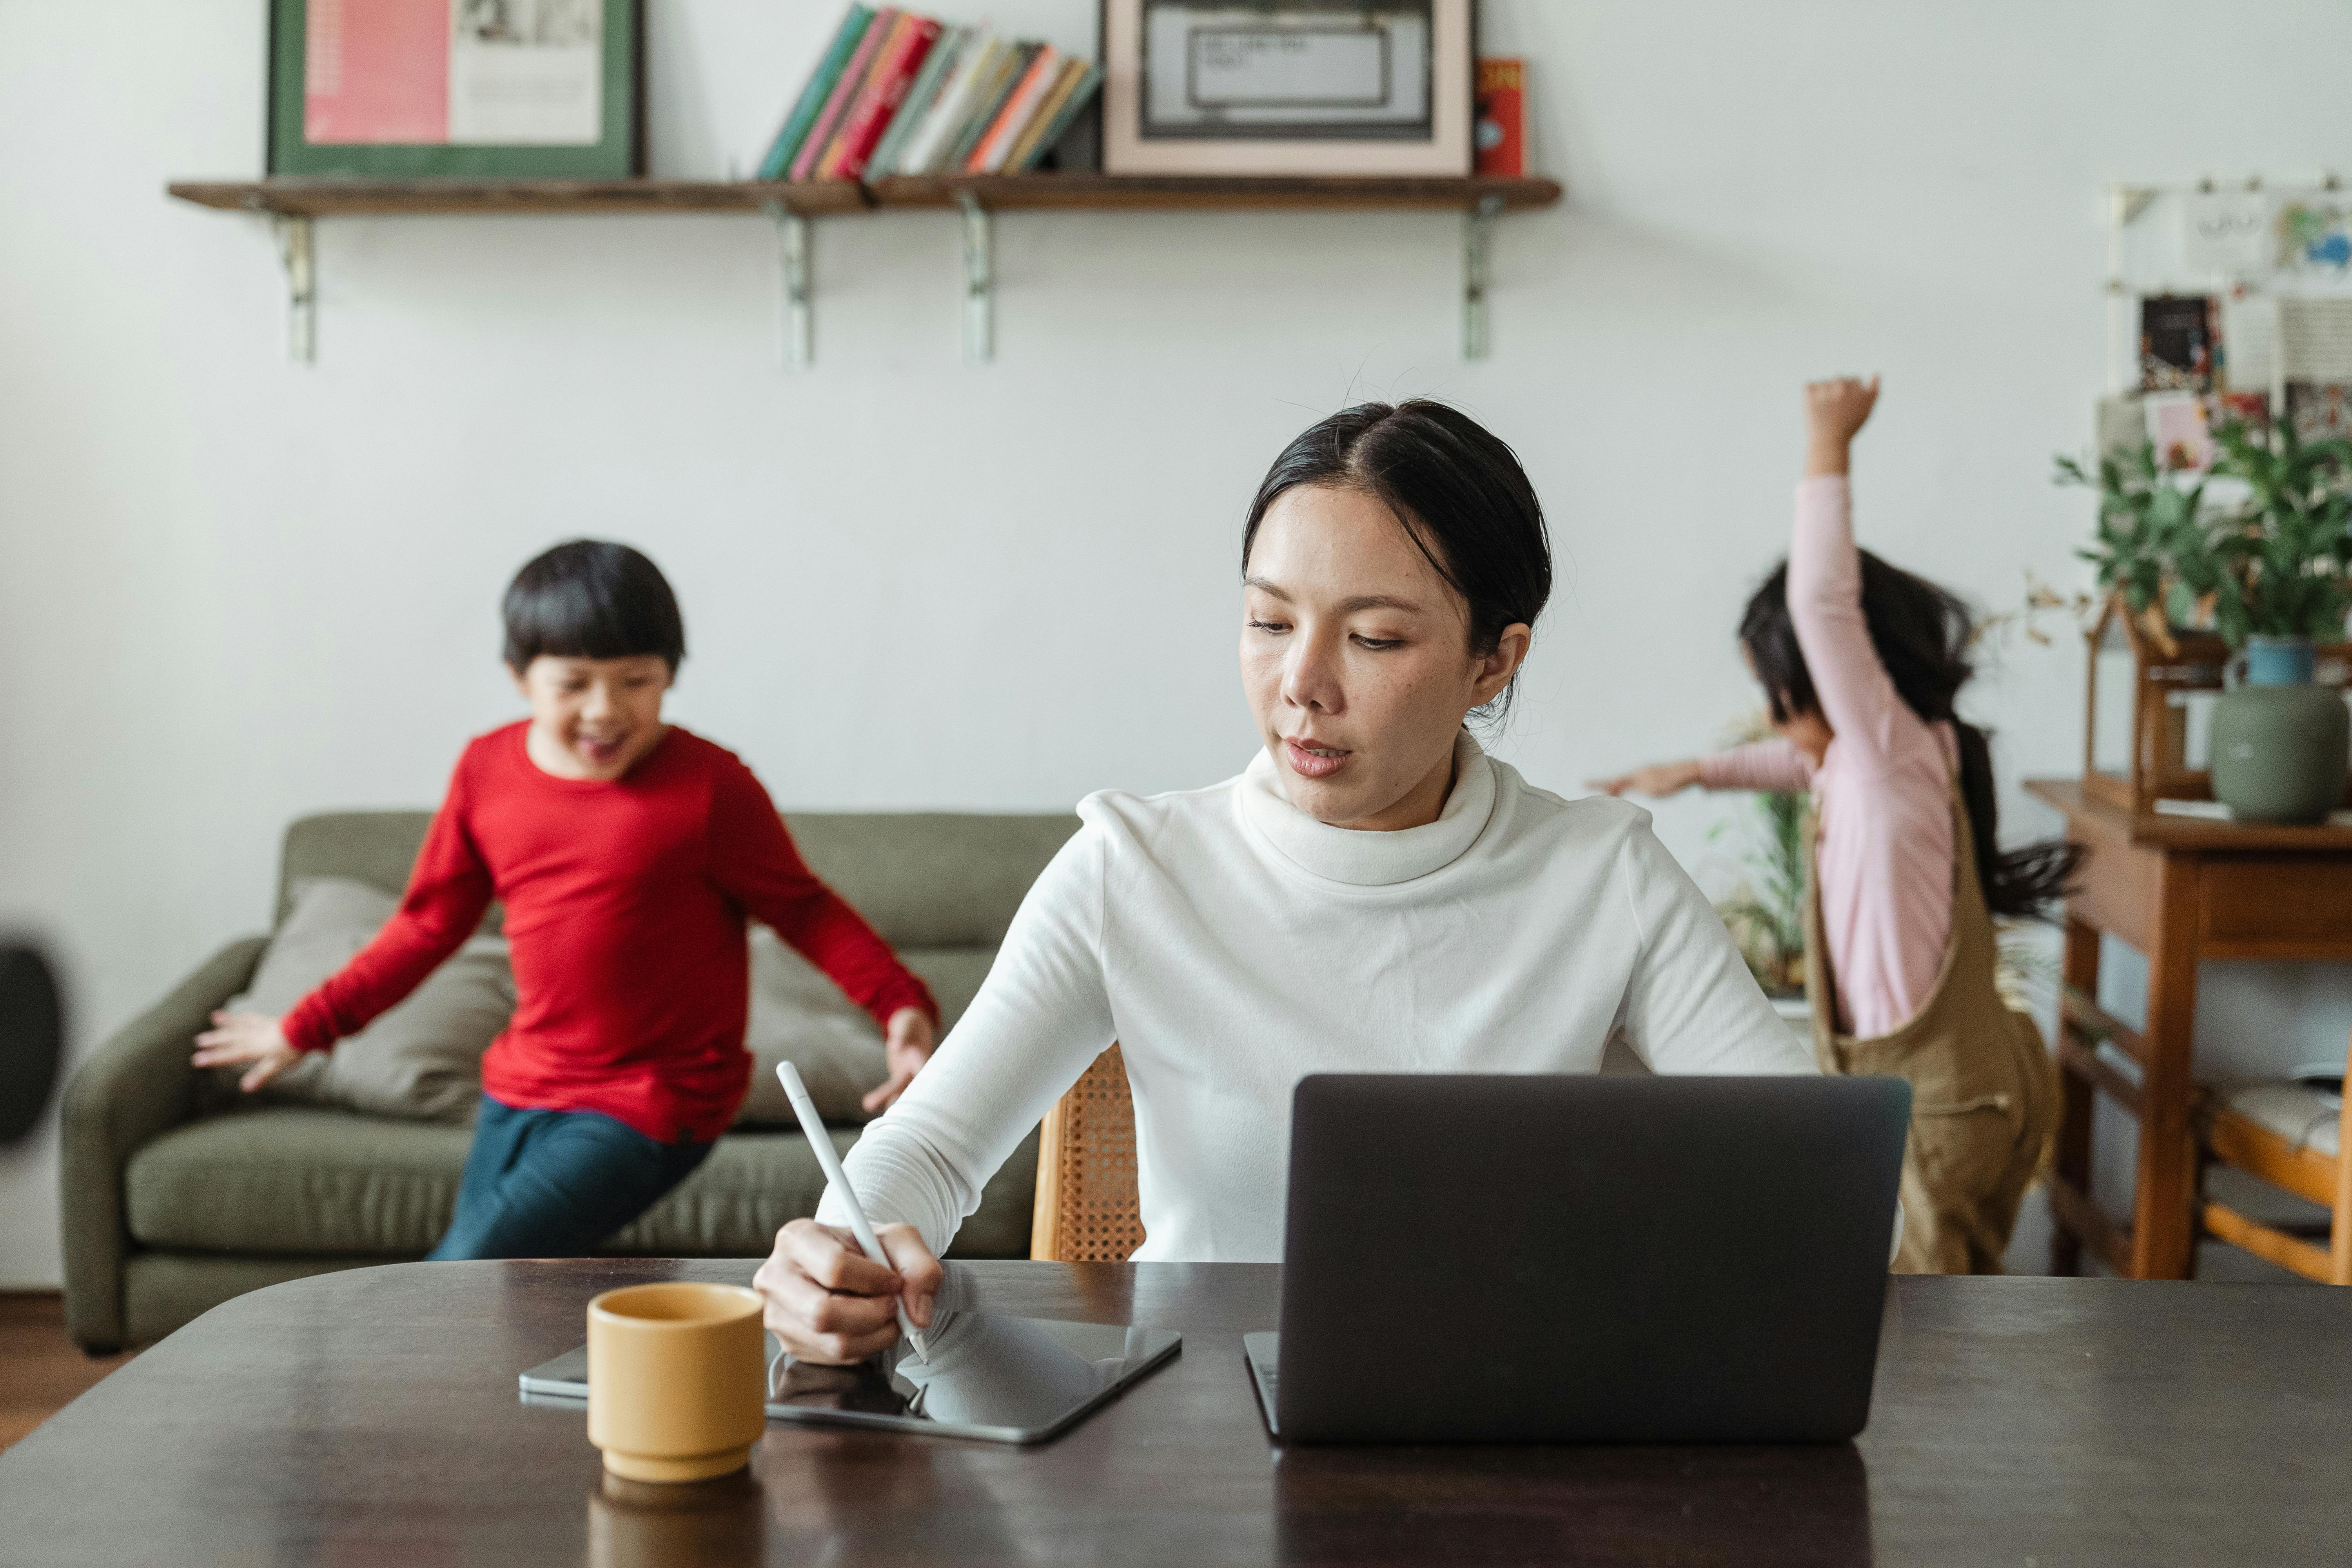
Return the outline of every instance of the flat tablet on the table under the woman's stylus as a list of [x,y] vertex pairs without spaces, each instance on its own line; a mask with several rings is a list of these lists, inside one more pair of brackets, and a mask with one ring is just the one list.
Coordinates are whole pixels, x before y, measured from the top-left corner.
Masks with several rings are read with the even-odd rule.
[[[1164,1366],[1183,1335],[1167,1328],[1056,1324],[941,1312],[929,1361],[894,1345],[856,1366],[793,1361],[767,1335],[769,1420],[877,1427],[985,1443],[1042,1443]],[[588,1347],[522,1373],[529,1403],[588,1399]]]

